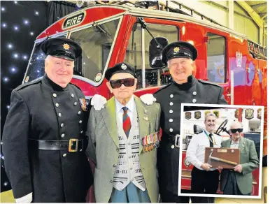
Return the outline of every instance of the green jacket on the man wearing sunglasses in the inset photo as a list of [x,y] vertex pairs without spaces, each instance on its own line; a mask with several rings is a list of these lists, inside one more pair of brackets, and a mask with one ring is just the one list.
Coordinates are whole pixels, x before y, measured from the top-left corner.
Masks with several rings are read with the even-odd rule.
[[[221,147],[230,147],[231,139],[222,141]],[[249,194],[252,191],[253,175],[252,172],[259,167],[259,159],[255,150],[253,140],[240,138],[240,164],[242,173],[236,172],[236,182],[242,194]],[[223,191],[227,182],[228,171],[222,171],[220,175],[220,189]]]

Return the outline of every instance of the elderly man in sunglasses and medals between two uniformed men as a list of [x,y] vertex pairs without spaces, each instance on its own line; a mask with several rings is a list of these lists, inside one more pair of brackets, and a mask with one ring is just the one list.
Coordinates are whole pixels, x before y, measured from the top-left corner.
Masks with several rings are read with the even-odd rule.
[[96,163],[97,203],[157,203],[157,147],[160,105],[145,105],[134,96],[135,70],[125,63],[108,68],[113,97],[90,111],[87,152]]

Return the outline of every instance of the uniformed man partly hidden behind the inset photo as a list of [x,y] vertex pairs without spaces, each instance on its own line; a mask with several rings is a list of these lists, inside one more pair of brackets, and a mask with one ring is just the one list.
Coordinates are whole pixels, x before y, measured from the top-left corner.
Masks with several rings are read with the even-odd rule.
[[184,41],[171,43],[162,50],[162,60],[168,64],[173,78],[173,82],[154,94],[162,108],[162,142],[157,150],[157,168],[164,203],[189,202],[189,197],[178,196],[181,103],[227,104],[222,87],[194,78],[196,58],[196,48]]

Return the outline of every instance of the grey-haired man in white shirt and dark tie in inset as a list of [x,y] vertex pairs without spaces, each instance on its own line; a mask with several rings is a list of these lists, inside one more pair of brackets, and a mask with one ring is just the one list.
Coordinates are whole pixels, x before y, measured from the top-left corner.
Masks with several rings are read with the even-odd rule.
[[[220,172],[204,163],[206,147],[220,147],[221,137],[214,133],[216,116],[212,113],[204,119],[206,129],[194,135],[187,147],[187,160],[194,165],[192,169],[191,191],[192,194],[216,194]],[[205,199],[204,202],[202,200]],[[192,203],[212,203],[214,198],[192,197]]]

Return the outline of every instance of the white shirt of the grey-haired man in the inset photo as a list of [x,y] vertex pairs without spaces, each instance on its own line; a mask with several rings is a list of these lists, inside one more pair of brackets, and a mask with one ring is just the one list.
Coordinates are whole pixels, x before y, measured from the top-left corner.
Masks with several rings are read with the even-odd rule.
[[[208,131],[206,131],[206,133],[208,133],[208,135],[210,134]],[[203,131],[202,133],[192,136],[190,144],[187,147],[187,160],[200,170],[203,170],[201,164],[204,163],[206,147],[210,147],[210,140],[206,136],[206,133]],[[220,147],[222,141],[221,137],[215,133],[212,134],[213,142],[215,141],[213,147]],[[211,168],[210,170],[215,170],[215,168]]]

